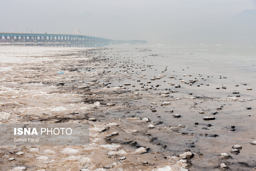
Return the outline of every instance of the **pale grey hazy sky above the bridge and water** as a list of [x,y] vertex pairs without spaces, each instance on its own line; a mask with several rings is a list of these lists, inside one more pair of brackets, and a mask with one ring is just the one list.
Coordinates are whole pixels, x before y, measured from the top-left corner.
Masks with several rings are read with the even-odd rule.
[[[147,40],[156,43],[232,41],[234,36],[229,30],[240,27],[240,23],[235,21],[236,17],[244,10],[256,9],[256,0],[0,0],[0,2],[2,32],[31,33],[32,30],[34,33],[72,34],[75,29],[79,29],[83,35],[114,40]],[[254,14],[256,16],[256,12],[249,15]],[[254,30],[255,26],[254,20],[249,30]],[[240,32],[248,34],[246,27],[245,30],[238,30],[234,34],[240,35]],[[247,39],[255,36],[254,32],[252,31],[253,35],[248,38],[240,36],[246,43]]]

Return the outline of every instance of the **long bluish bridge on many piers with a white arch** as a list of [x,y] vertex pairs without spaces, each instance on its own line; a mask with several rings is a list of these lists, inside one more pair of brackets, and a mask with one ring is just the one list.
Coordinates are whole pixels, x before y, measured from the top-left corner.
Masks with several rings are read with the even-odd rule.
[[83,36],[76,29],[73,34],[47,34],[47,33],[6,33],[0,32],[0,41],[9,42],[63,42],[63,43],[88,43],[88,42],[112,42],[111,39]]

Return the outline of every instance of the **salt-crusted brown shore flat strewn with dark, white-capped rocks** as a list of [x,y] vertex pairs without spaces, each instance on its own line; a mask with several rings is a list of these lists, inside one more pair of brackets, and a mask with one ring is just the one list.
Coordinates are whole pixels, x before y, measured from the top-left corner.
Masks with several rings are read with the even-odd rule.
[[88,146],[1,146],[2,170],[256,169],[250,78],[177,68],[152,48],[4,47],[0,58],[1,123],[90,123]]

